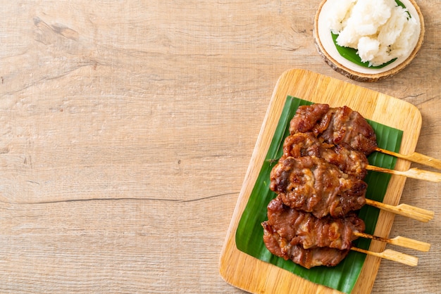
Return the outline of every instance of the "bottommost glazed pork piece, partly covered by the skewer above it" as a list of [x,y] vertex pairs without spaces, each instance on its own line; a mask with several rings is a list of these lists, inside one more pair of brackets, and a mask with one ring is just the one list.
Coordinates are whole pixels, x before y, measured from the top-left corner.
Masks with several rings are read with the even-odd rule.
[[280,238],[278,233],[267,223],[263,223],[262,226],[263,242],[273,255],[282,257],[285,260],[292,260],[296,264],[306,267],[306,269],[321,265],[335,267],[349,253],[349,250],[338,250],[329,247],[304,249],[302,245],[292,245],[285,239]]

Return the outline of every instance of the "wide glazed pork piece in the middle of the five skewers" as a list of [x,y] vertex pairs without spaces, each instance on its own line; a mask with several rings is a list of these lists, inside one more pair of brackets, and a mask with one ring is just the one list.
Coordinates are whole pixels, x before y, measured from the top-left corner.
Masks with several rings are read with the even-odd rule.
[[270,174],[270,188],[285,205],[315,217],[343,217],[366,203],[367,184],[316,156],[282,158]]

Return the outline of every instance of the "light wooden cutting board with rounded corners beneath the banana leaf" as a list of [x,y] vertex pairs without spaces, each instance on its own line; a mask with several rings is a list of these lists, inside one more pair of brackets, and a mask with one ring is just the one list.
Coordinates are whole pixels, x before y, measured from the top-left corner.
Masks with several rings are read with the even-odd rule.
[[[232,286],[251,293],[340,293],[306,281],[285,269],[242,253],[236,248],[237,225],[256,183],[288,95],[314,103],[328,103],[331,107],[349,106],[369,120],[401,129],[403,138],[400,153],[402,154],[415,151],[421,129],[421,113],[415,106],[405,101],[308,70],[288,70],[278,79],[225,238],[220,273]],[[397,160],[395,170],[408,170],[409,167],[410,162]],[[405,181],[405,177],[392,176],[384,203],[399,204]],[[394,216],[390,212],[380,212],[375,227],[376,236],[389,236]],[[385,243],[371,242],[370,250],[381,252],[384,249]],[[352,293],[371,292],[380,261],[378,257],[370,255],[366,257]]]

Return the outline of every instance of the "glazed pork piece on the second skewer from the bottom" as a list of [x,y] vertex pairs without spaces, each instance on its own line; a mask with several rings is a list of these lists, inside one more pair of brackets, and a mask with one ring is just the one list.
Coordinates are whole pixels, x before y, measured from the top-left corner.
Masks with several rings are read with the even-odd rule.
[[304,249],[329,247],[350,249],[352,241],[358,238],[354,232],[362,233],[365,225],[362,219],[351,213],[344,218],[330,216],[318,219],[308,212],[294,210],[277,197],[268,204],[268,221],[262,226],[278,234],[278,243],[302,245]]

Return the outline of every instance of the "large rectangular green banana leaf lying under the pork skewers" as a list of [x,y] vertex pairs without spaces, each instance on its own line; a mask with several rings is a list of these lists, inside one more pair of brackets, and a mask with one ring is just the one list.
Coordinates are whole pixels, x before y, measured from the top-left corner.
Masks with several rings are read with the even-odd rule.
[[[289,134],[290,120],[294,116],[297,108],[301,105],[311,105],[305,101],[292,96],[287,96],[287,101],[282,110],[282,115],[275,130],[271,146],[263,162],[259,177],[256,180],[247,206],[240,219],[235,235],[236,245],[239,250],[253,257],[275,264],[282,269],[291,271],[297,276],[319,283],[330,288],[340,290],[344,293],[350,293],[359,277],[361,267],[363,266],[366,255],[351,251],[349,255],[336,267],[313,267],[305,269],[290,260],[284,260],[281,257],[272,255],[263,243],[263,229],[261,222],[267,219],[266,206],[275,198],[275,193],[270,190],[270,172],[278,158],[282,155],[282,144],[285,137]],[[377,135],[378,146],[390,151],[399,151],[402,141],[402,131],[387,127],[383,124],[368,121]],[[382,153],[372,153],[368,160],[371,165],[393,169],[396,158]],[[383,201],[387,184],[390,180],[390,174],[380,172],[368,172],[364,179],[368,184],[366,198]],[[375,207],[365,205],[359,211],[359,217],[366,223],[366,233],[373,234],[377,223],[379,210]],[[359,238],[355,245],[358,248],[369,248],[368,239]]]

